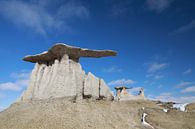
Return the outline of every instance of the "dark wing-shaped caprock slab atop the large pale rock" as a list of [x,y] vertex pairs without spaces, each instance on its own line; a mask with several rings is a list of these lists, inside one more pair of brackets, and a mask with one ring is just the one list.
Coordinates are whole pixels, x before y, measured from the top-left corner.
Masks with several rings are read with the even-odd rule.
[[65,54],[68,55],[70,59],[78,62],[80,57],[100,58],[106,56],[116,56],[117,52],[112,50],[90,50],[58,43],[51,47],[48,51],[37,55],[25,56],[23,60],[32,63],[50,62],[55,59],[62,58]]

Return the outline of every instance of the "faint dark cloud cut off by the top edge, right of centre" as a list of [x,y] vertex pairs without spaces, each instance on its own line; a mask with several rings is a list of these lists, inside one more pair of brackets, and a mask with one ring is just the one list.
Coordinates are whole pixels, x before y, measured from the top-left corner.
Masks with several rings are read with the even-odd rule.
[[146,4],[150,10],[162,12],[170,6],[172,1],[173,0],[146,0]]

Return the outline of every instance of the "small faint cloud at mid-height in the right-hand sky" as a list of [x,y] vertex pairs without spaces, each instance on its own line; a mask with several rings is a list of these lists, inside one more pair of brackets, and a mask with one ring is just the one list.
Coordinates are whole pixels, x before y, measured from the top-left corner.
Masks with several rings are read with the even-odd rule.
[[155,73],[155,72],[161,71],[161,70],[167,68],[168,66],[169,66],[168,63],[154,62],[154,63],[150,64],[150,66],[148,68],[148,73]]

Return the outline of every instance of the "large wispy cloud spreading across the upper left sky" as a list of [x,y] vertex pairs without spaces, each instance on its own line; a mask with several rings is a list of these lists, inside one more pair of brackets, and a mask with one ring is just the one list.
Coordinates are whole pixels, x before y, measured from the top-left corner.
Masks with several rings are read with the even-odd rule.
[[[51,2],[54,5],[52,7]],[[25,27],[47,36],[48,33],[59,32],[62,28],[69,31],[69,22],[75,18],[88,17],[89,11],[74,0],[63,2],[3,0],[0,1],[0,14],[18,28]]]

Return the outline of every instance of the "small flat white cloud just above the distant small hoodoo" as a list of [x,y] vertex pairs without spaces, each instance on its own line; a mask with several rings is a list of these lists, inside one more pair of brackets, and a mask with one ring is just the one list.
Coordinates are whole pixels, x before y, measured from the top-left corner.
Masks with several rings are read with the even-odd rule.
[[131,85],[134,84],[135,81],[131,80],[131,79],[119,79],[119,80],[113,80],[111,82],[108,83],[108,85]]

